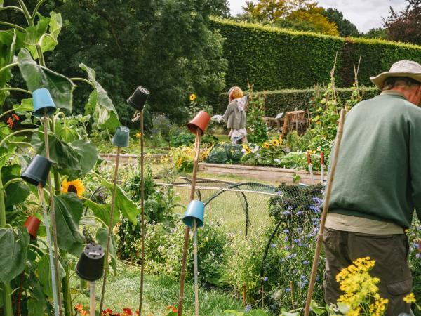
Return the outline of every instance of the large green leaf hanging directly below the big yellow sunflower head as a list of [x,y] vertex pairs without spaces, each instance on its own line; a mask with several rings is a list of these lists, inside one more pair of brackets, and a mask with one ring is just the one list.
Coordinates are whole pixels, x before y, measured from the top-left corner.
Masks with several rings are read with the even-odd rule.
[[83,235],[79,231],[83,204],[74,193],[55,195],[53,198],[58,246],[60,249],[79,257],[83,251],[84,242]]

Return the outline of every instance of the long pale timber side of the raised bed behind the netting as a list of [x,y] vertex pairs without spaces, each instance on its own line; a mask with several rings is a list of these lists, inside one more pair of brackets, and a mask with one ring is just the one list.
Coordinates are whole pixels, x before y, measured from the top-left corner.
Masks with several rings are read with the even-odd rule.
[[[241,164],[206,164],[199,163],[199,171],[218,175],[234,175],[254,178],[268,182],[294,183],[293,174],[300,176],[300,183],[311,184],[310,173],[304,170],[274,168],[264,166],[243,166]],[[326,174],[326,173],[325,173]],[[321,182],[321,173],[314,171],[314,182]]]

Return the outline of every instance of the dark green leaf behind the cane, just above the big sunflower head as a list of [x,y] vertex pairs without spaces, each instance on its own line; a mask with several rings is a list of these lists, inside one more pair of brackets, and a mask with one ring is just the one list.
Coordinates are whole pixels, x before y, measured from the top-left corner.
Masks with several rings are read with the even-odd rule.
[[[37,154],[45,156],[44,137],[39,133],[32,134],[32,147]],[[79,155],[70,145],[60,140],[54,135],[48,135],[48,145],[50,147],[50,159],[54,163],[54,168],[60,174],[69,178],[79,178],[82,176]]]

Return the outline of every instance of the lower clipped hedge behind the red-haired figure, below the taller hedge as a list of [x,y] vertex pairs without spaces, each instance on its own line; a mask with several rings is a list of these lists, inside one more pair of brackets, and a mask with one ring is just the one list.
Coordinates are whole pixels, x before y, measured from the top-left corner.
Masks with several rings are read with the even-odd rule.
[[[361,88],[364,100],[373,98],[380,93],[377,88]],[[351,88],[338,88],[338,95],[342,101],[351,97]],[[280,112],[307,110],[312,106],[310,102],[314,95],[314,89],[304,90],[278,90],[254,92],[253,98],[263,96],[265,98],[265,112],[267,117],[275,117]],[[216,113],[224,114],[228,105],[228,93],[221,93],[213,110]]]

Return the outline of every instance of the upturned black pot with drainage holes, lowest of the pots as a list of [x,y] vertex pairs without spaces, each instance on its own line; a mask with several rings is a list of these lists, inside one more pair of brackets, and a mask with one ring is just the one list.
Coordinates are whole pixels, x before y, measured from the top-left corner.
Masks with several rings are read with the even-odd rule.
[[99,244],[86,245],[77,262],[76,274],[86,281],[100,279],[104,274],[104,248]]

